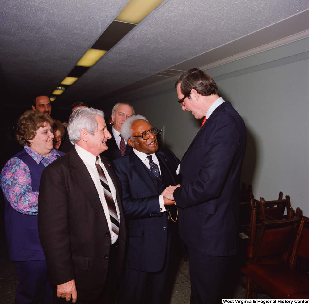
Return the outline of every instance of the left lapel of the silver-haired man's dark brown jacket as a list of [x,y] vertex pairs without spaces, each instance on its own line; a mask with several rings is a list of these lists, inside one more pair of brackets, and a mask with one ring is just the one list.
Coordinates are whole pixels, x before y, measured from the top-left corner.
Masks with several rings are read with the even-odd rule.
[[72,177],[77,183],[79,189],[83,192],[87,202],[91,205],[95,214],[98,216],[100,222],[107,228],[108,223],[105,217],[103,206],[99,198],[95,184],[83,163],[82,159],[78,156],[75,148],[71,149],[70,152],[70,165],[72,167]]

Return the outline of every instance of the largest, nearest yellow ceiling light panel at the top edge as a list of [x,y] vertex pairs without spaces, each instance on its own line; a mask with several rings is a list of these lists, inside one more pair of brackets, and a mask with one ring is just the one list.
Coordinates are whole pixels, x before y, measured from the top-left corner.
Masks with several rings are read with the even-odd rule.
[[163,0],[131,0],[115,20],[138,24]]

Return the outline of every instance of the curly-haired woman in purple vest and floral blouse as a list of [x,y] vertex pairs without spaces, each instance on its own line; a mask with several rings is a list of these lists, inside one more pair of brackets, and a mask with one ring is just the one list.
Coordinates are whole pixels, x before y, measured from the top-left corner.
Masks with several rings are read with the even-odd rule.
[[15,304],[52,303],[36,215],[41,174],[64,154],[53,149],[53,123],[50,116],[32,110],[21,115],[15,136],[24,149],[5,164],[0,175],[6,239],[18,275]]

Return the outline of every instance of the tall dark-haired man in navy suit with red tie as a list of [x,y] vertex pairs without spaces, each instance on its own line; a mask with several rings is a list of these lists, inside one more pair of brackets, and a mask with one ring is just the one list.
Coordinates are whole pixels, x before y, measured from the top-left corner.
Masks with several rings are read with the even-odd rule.
[[[181,161],[180,187],[164,192],[179,209],[179,233],[190,259],[191,304],[216,303],[230,256],[238,249],[239,183],[246,148],[243,119],[218,96],[201,69],[176,81],[182,109],[203,120]],[[222,303],[222,301],[220,302]]]

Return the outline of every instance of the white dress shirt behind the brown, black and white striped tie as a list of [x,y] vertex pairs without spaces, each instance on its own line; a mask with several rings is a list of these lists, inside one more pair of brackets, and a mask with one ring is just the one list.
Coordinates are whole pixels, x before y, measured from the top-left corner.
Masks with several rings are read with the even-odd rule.
[[[107,206],[107,203],[105,201],[104,191],[103,191],[103,187],[102,187],[101,182],[100,182],[99,173],[98,173],[98,170],[95,166],[96,156],[94,156],[93,154],[91,154],[87,150],[81,148],[80,146],[78,146],[78,144],[75,145],[75,149],[76,149],[78,156],[83,160],[83,163],[85,164],[85,166],[86,166],[86,168],[87,168],[87,170],[88,170],[88,172],[89,172],[89,174],[92,178],[92,181],[95,184],[95,188],[98,191],[99,198],[101,200],[103,210],[104,210],[104,213],[105,213],[105,217],[106,217],[106,220],[107,220],[107,223],[108,223],[109,232],[110,232],[110,235],[111,235],[111,241],[112,241],[111,244],[114,244],[116,242],[116,240],[118,239],[118,235],[116,235],[116,233],[114,233],[112,231],[112,224],[111,224],[111,219],[110,219],[110,215],[109,215],[109,211],[108,211],[108,206]],[[115,186],[112,182],[112,179],[110,178],[108,172],[105,169],[104,164],[101,161],[100,156],[99,156],[99,164],[104,171],[104,174],[105,174],[106,179],[108,181],[109,188],[111,189],[112,197],[114,199],[116,210],[117,210],[118,220],[120,222],[119,207],[118,207],[118,203],[117,203],[117,199],[116,199],[116,189],[115,189]]]

